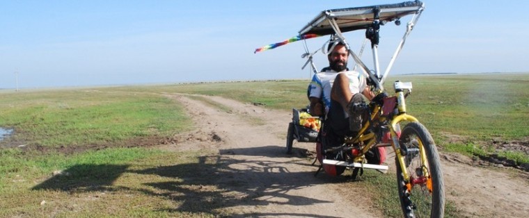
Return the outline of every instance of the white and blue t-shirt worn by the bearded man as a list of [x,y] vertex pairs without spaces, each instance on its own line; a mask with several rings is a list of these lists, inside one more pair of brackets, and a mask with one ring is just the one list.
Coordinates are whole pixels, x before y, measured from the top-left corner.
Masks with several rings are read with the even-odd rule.
[[326,113],[329,112],[329,108],[331,107],[331,88],[338,74],[347,74],[349,78],[349,90],[353,94],[361,93],[368,86],[365,82],[365,76],[359,72],[345,71],[338,73],[329,70],[314,74],[312,81],[308,85],[308,97],[322,99]]

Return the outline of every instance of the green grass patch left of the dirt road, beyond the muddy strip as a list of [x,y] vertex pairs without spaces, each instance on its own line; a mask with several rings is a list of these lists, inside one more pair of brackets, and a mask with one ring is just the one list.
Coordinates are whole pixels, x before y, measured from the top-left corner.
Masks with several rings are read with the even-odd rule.
[[[84,146],[167,136],[191,126],[180,105],[159,94],[67,90],[2,94],[6,143]],[[17,144],[15,144],[17,145]]]

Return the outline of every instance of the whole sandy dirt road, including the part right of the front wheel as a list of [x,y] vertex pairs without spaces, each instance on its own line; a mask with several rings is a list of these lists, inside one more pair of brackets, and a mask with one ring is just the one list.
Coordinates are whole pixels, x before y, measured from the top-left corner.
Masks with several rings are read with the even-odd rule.
[[[183,94],[168,97],[187,108],[198,130],[175,136],[166,149],[213,149],[219,159],[230,160],[228,170],[237,172],[235,177],[216,175],[219,181],[232,184],[230,199],[237,198],[237,203],[224,210],[238,217],[384,217],[370,206],[370,199],[343,197],[338,188],[343,178],[324,173],[314,176],[317,167],[307,155],[313,153],[314,144],[294,141],[294,154],[285,154],[290,112],[221,97],[199,97],[217,106]],[[446,196],[463,217],[529,215],[526,175],[511,169],[475,167],[464,156],[443,153],[441,158]],[[362,191],[348,190],[349,194]]]

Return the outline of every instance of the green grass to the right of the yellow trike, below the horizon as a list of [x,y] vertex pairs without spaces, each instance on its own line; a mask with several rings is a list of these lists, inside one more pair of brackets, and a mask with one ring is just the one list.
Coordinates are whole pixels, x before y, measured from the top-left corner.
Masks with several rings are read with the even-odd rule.
[[433,133],[470,140],[526,139],[529,129],[529,74],[406,76],[413,94],[409,112]]

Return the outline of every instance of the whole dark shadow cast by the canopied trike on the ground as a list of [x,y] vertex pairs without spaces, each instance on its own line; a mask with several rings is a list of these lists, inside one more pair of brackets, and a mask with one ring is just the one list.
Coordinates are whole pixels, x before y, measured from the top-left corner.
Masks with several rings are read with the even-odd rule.
[[[306,153],[304,149],[297,150],[299,153]],[[285,161],[284,158],[288,157],[291,158]],[[33,190],[65,192],[129,190],[169,199],[178,205],[176,208],[161,206],[157,209],[163,212],[205,213],[221,217],[226,215],[230,217],[275,215],[328,217],[305,214],[303,211],[288,214],[253,212],[233,215],[230,208],[255,206],[255,210],[252,209],[252,211],[258,211],[259,206],[271,204],[311,206],[329,203],[329,201],[307,197],[304,194],[292,194],[290,191],[323,183],[345,182],[343,179],[328,176],[315,177],[317,167],[314,167],[314,171],[290,171],[291,168],[285,165],[303,165],[302,168],[306,168],[306,165],[310,163],[307,163],[306,156],[292,158],[285,154],[283,146],[223,149],[216,156],[198,156],[196,162],[139,170],[132,170],[133,165],[75,165],[36,185]],[[300,167],[294,168],[299,169]],[[134,187],[113,185],[113,182],[124,173],[155,175],[168,179],[164,179],[164,182],[139,181]]]

